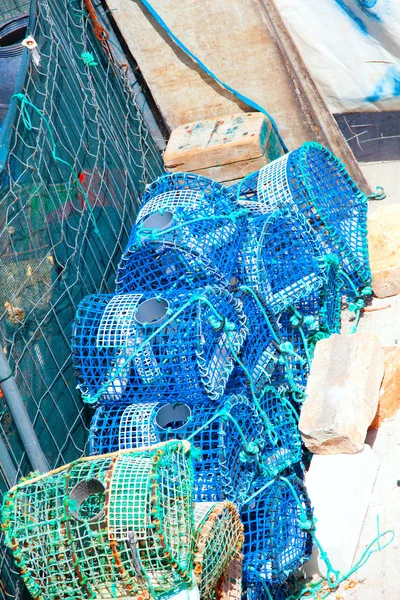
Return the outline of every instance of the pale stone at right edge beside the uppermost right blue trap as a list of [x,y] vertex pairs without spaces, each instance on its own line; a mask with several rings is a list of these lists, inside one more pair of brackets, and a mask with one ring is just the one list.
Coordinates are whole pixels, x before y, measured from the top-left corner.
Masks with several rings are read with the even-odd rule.
[[368,217],[372,289],[378,298],[400,293],[400,206],[380,206]]

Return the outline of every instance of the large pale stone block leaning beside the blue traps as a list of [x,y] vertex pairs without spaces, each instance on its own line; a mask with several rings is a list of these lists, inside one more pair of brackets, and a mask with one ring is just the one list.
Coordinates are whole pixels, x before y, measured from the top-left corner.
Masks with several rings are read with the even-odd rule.
[[372,333],[335,334],[317,343],[299,422],[311,452],[362,450],[383,372],[383,350]]

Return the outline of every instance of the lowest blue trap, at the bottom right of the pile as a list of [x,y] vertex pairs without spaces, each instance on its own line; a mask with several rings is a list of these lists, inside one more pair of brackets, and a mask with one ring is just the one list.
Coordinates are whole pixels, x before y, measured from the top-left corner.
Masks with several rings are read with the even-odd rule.
[[300,479],[287,479],[290,485],[283,479],[272,481],[241,510],[243,568],[249,581],[281,584],[311,556],[310,501]]

